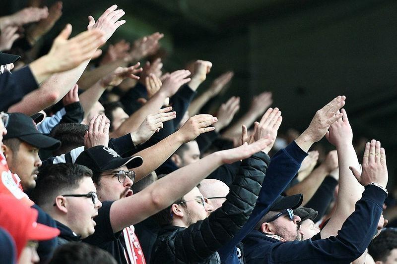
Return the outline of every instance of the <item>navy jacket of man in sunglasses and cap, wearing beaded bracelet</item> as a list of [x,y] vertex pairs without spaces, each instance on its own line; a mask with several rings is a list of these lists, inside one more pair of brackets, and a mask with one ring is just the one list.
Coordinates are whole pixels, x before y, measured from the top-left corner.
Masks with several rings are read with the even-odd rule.
[[337,236],[327,239],[280,242],[253,230],[243,241],[247,264],[351,263],[360,257],[377,229],[386,192],[374,185],[365,187],[355,211]]

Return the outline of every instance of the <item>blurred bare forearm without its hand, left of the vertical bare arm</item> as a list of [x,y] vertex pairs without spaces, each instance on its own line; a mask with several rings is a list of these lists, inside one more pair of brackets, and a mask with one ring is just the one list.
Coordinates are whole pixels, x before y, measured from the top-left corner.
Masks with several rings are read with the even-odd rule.
[[320,187],[321,183],[328,175],[328,171],[325,165],[320,165],[312,171],[303,181],[292,186],[286,191],[288,196],[294,194],[303,194],[302,206],[312,199],[313,195],[316,193],[317,189]]

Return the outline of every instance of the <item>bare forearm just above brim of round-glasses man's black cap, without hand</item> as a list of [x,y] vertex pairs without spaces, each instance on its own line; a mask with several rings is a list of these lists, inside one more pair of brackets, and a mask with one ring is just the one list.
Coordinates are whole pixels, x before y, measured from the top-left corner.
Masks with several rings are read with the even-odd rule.
[[136,155],[140,155],[143,158],[143,164],[135,168],[135,180],[138,181],[148,175],[150,172],[158,168],[167,158],[171,157],[172,154],[183,144],[180,132],[175,132],[159,143],[144,149]]

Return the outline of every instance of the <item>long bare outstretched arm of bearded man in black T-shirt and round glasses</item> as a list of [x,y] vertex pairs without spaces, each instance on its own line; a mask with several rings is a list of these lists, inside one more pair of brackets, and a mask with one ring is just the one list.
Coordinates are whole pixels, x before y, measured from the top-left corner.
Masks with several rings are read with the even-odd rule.
[[[170,206],[220,165],[249,158],[264,149],[268,143],[268,140],[263,139],[250,145],[215,152],[168,174],[137,194],[115,201],[110,208],[113,232],[138,223]],[[137,211],[139,213],[136,213]]]

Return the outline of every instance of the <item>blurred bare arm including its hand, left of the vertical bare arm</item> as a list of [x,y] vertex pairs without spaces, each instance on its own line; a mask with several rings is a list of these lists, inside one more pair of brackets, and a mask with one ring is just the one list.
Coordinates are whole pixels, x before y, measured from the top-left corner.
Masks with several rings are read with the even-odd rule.
[[317,189],[327,175],[338,166],[336,151],[331,151],[326,160],[312,171],[304,180],[289,188],[285,193],[290,196],[294,194],[303,194],[302,206],[312,199]]

